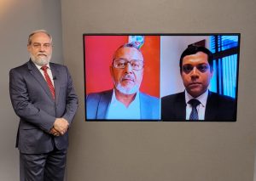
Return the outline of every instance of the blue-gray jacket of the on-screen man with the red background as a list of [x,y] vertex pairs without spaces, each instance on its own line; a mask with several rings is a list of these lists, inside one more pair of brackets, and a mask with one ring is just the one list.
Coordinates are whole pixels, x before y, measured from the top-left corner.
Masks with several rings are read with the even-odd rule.
[[[113,90],[90,93],[86,98],[86,120],[104,120]],[[160,120],[160,99],[140,93],[141,120]]]

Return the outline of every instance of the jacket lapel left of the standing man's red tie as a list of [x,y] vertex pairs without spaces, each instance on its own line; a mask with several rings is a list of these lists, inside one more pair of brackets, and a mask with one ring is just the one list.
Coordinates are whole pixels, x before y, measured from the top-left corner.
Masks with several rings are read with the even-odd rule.
[[[35,79],[38,81],[38,83],[40,84],[40,86],[43,88],[44,92],[47,93],[47,95],[49,96],[50,99],[52,99],[52,95],[49,91],[49,87],[47,82],[44,80],[44,76],[41,74],[41,72],[38,70],[38,68],[36,67],[36,65],[34,65],[34,63],[32,63],[32,60],[29,60],[28,64],[28,70],[30,71],[30,73],[32,74],[32,76],[35,77]],[[53,100],[53,99],[52,99]],[[54,100],[53,100],[54,101]]]

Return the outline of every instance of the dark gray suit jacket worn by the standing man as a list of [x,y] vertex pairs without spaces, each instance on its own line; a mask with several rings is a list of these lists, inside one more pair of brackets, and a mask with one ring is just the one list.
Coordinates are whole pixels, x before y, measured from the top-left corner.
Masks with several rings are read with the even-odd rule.
[[56,117],[69,124],[78,108],[78,97],[71,76],[64,65],[49,63],[55,77],[55,100],[44,76],[29,60],[9,72],[9,93],[15,113],[20,116],[16,146],[21,153],[47,153],[55,147],[67,149],[68,134],[54,137],[49,134]]

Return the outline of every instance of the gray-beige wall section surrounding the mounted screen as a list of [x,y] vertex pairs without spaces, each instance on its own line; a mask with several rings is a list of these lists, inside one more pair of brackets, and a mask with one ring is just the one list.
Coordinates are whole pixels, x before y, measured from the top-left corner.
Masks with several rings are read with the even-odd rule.
[[[256,1],[62,0],[64,61],[79,112],[67,179],[252,181]],[[241,32],[237,122],[84,122],[83,33]]]

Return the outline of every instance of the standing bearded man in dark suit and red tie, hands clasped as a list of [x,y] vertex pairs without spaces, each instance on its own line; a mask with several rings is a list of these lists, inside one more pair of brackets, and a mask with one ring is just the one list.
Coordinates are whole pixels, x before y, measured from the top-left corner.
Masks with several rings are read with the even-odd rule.
[[78,97],[67,67],[49,63],[52,37],[47,31],[33,31],[27,50],[31,59],[9,72],[10,99],[20,117],[16,140],[20,180],[62,181],[67,130],[78,108]]

